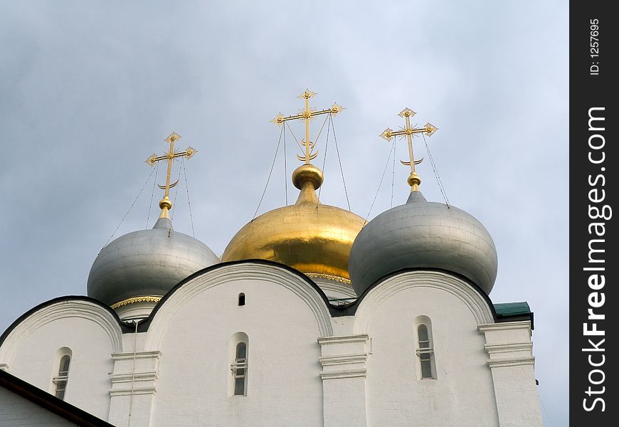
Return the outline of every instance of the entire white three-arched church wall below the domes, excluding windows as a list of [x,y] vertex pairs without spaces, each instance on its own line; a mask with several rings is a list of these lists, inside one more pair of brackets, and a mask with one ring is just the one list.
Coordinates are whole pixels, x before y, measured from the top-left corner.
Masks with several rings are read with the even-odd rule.
[[[419,375],[420,316],[435,379]],[[231,396],[237,332],[246,396]],[[445,273],[389,278],[354,316],[332,317],[289,270],[225,265],[171,294],[147,332],[121,334],[92,302],[44,307],[9,334],[0,368],[53,391],[60,347],[73,352],[65,400],[117,426],[541,426],[529,322],[495,324]]]

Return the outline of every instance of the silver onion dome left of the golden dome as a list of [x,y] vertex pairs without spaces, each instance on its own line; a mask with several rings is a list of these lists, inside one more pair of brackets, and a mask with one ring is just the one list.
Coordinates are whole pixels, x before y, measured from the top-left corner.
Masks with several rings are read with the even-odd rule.
[[204,243],[159,218],[150,230],[125,234],[105,246],[88,275],[88,296],[109,305],[133,297],[163,296],[177,283],[219,262]]

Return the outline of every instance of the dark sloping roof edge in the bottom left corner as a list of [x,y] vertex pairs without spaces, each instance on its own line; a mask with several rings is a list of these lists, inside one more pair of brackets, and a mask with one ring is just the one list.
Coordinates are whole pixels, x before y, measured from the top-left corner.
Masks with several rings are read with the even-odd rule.
[[23,379],[19,379],[9,372],[2,371],[0,369],[0,387],[12,391],[14,394],[28,399],[41,408],[55,413],[56,415],[65,418],[78,426],[84,427],[114,427],[112,424],[103,421],[101,418],[97,418],[83,409],[68,404],[67,402],[58,399],[57,397],[49,394],[47,391],[43,391],[32,384],[29,384]]

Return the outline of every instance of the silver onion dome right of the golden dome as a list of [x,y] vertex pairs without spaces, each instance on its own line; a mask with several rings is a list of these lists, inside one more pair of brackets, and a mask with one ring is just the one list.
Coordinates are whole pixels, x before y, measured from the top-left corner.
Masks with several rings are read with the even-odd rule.
[[426,201],[420,191],[412,191],[406,204],[367,223],[349,258],[357,295],[403,268],[448,270],[490,293],[497,278],[497,249],[490,233],[470,214]]

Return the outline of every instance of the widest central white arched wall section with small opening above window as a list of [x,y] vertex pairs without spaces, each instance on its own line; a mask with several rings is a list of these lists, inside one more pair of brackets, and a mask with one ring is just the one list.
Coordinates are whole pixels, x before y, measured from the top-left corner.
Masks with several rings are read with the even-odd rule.
[[[317,313],[317,293],[290,272],[247,270],[196,278],[157,314],[165,322],[154,323],[147,339],[162,354],[152,426],[322,425],[317,315],[328,325],[326,307]],[[246,396],[231,396],[236,332],[249,341]]]

